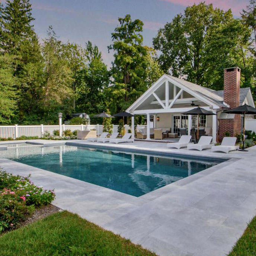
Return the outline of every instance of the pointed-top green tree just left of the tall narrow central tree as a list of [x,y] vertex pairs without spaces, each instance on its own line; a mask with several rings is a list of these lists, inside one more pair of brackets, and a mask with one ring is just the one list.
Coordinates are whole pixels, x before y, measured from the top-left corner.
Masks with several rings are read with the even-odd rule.
[[102,112],[107,105],[104,89],[109,85],[109,72],[96,45],[86,43],[86,67],[77,77],[77,108],[86,113]]

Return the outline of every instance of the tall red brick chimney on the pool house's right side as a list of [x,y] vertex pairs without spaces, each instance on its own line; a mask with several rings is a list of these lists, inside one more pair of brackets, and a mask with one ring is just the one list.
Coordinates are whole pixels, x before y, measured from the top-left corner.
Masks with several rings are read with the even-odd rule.
[[[224,69],[224,103],[231,109],[239,106],[240,100],[240,68]],[[241,116],[221,113],[218,118],[218,141],[222,141],[225,132],[229,132],[231,137],[241,133]]]

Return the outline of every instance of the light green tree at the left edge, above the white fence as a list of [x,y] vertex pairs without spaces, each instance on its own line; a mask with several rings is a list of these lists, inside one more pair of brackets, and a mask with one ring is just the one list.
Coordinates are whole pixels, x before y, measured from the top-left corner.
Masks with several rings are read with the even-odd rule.
[[17,108],[16,86],[18,80],[13,76],[15,57],[0,55],[0,124],[10,123]]

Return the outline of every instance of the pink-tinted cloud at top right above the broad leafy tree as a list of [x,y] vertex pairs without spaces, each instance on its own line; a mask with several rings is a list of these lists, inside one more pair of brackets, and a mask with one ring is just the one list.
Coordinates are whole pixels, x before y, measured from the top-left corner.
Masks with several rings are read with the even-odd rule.
[[173,4],[179,4],[181,6],[191,6],[194,3],[199,4],[205,1],[206,4],[212,3],[214,7],[228,10],[231,9],[233,14],[236,16],[240,15],[240,12],[246,7],[248,1],[246,0],[160,0],[166,1]]

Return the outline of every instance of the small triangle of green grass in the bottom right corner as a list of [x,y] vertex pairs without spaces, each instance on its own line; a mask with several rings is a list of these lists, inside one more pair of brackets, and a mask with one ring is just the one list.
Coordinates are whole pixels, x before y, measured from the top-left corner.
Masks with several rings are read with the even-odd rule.
[[249,223],[228,256],[256,256],[256,217]]

